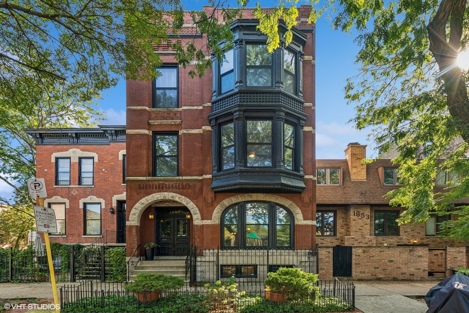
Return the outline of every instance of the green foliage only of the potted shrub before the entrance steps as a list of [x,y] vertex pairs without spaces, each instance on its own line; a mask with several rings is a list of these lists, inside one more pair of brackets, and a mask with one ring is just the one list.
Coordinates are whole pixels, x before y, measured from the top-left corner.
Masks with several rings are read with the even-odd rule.
[[184,280],[180,277],[161,273],[142,273],[137,275],[136,282],[124,285],[123,288],[130,292],[151,292],[175,290],[182,285]]

